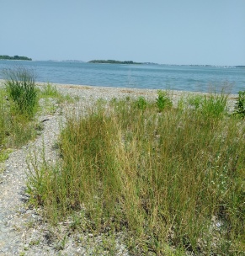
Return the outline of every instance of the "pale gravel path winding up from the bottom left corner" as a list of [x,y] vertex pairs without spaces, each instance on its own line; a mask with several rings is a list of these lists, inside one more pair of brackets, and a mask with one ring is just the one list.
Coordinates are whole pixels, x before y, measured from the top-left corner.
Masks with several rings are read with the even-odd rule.
[[[81,113],[93,104],[93,99],[84,100],[75,107],[67,105],[63,111],[65,114]],[[88,232],[71,232],[69,220],[52,227],[42,218],[41,209],[29,208],[27,204],[29,159],[36,156],[41,161],[43,152],[46,163],[55,163],[59,157],[55,146],[61,125],[65,123],[65,114],[60,113],[56,111],[55,115],[40,116],[39,120],[44,125],[41,135],[9,154],[4,163],[4,171],[0,173],[0,256],[108,255],[104,251],[102,237],[93,237]],[[117,255],[129,255],[125,246],[114,239]]]

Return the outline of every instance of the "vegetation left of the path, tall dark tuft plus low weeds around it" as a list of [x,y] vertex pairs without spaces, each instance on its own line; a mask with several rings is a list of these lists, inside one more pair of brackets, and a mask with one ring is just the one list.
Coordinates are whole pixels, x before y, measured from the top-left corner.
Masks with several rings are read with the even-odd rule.
[[[37,116],[40,113],[56,112],[57,105],[74,102],[69,95],[59,93],[50,83],[38,88],[35,73],[17,67],[3,70],[5,78],[0,88],[0,162],[8,158],[9,148],[18,148],[40,134],[42,125]],[[40,108],[40,99],[45,107]]]

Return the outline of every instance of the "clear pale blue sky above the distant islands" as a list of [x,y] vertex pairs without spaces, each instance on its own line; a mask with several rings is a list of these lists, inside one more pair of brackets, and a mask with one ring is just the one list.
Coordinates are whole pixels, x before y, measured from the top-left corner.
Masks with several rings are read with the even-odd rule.
[[245,65],[245,0],[0,0],[0,55]]

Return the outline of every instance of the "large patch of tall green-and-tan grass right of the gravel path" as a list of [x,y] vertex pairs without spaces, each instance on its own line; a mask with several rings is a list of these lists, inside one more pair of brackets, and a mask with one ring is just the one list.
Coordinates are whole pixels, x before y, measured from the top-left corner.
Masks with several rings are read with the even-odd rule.
[[184,111],[137,102],[68,115],[61,160],[29,167],[31,201],[53,223],[80,212],[90,232],[123,232],[133,254],[240,255],[245,127],[223,118],[226,97]]

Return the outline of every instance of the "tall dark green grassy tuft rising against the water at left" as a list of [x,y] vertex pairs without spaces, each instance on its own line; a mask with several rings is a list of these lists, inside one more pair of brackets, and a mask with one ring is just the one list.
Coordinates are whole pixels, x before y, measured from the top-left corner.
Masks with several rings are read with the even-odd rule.
[[3,70],[5,87],[21,115],[32,118],[37,105],[35,74],[24,67]]

